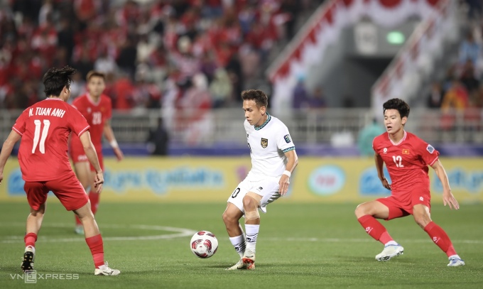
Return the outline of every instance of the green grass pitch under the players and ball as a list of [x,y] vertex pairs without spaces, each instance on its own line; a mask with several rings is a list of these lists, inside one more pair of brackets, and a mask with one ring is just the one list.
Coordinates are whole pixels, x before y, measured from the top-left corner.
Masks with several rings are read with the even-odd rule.
[[[0,204],[0,288],[483,288],[483,205],[458,211],[433,205],[433,220],[467,265],[448,268],[445,253],[412,217],[383,222],[404,246],[403,256],[374,259],[382,250],[354,217],[357,204],[274,203],[261,216],[256,270],[225,271],[238,261],[216,204],[103,203],[97,222],[105,258],[120,276],[94,276],[74,217],[48,202],[36,244],[40,274],[78,274],[76,280],[19,279],[28,205]],[[190,251],[193,231],[216,234],[215,256]]]

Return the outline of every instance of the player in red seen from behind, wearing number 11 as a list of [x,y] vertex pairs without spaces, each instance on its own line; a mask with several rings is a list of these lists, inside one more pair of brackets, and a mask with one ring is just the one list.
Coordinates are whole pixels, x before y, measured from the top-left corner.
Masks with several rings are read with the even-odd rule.
[[26,249],[23,253],[22,271],[33,270],[37,234],[45,214],[45,202],[49,191],[60,200],[65,209],[79,216],[85,229],[85,241],[94,259],[94,275],[118,275],[119,270],[104,263],[104,244],[92,214],[84,188],[75,177],[67,156],[67,139],[71,132],[80,137],[85,154],[94,166],[94,187],[102,190],[104,176],[92,144],[89,124],[77,109],[66,103],[70,97],[71,75],[75,70],[64,67],[51,68],[43,76],[47,99],[33,104],[18,116],[0,153],[0,183],[4,178],[6,160],[13,145],[22,139],[18,149],[18,163],[25,180],[30,214],[27,218]]

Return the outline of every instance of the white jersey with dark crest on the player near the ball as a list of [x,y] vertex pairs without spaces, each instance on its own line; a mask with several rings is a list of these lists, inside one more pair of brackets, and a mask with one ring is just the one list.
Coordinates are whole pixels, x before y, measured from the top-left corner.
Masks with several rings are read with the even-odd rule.
[[251,126],[246,119],[244,122],[251,156],[249,180],[280,177],[286,170],[285,153],[295,150],[287,126],[280,119],[267,115],[268,119],[259,127]]

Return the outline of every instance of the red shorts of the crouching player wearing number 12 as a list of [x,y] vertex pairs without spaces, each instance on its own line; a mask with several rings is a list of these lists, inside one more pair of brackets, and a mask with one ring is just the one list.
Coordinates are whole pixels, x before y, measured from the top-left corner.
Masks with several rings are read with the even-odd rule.
[[416,186],[408,192],[393,192],[390,197],[381,197],[376,201],[389,208],[389,217],[386,220],[413,214],[413,207],[419,204],[431,209],[431,195],[428,187]]

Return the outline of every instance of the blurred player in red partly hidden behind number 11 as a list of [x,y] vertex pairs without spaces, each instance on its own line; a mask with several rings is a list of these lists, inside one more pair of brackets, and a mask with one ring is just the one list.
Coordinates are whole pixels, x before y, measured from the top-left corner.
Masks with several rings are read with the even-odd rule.
[[[87,119],[90,126],[89,132],[92,137],[92,143],[97,151],[97,158],[101,164],[101,169],[104,170],[104,162],[102,158],[102,133],[107,138],[107,141],[114,149],[114,154],[117,160],[124,158],[123,153],[117,145],[114,132],[111,127],[112,103],[111,99],[102,94],[106,88],[105,76],[102,72],[90,71],[87,73],[87,94],[77,97],[72,102],[72,107],[75,107]],[[99,192],[93,190],[95,170],[92,165],[89,165],[87,156],[85,155],[82,143],[79,137],[72,133],[70,137],[70,156],[74,163],[74,170],[77,178],[79,178],[82,187],[88,192],[91,203],[91,210],[96,214],[99,206]],[[77,234],[84,234],[82,231],[82,224],[80,219],[75,217],[75,232]]]

